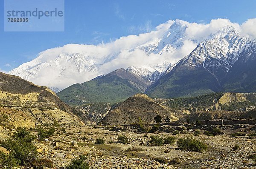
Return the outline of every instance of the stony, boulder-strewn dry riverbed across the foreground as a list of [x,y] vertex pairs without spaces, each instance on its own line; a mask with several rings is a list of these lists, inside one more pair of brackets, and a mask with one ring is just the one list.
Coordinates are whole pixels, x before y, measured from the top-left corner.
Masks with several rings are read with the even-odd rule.
[[[237,129],[237,131],[246,130]],[[192,129],[175,135],[182,138],[191,136],[208,145],[204,152],[188,152],[177,149],[177,144],[148,146],[144,134],[131,131],[109,131],[93,126],[58,127],[55,135],[48,140],[37,142],[41,158],[49,158],[55,168],[65,168],[74,158],[86,154],[91,169],[253,169],[252,159],[247,156],[256,153],[256,138],[245,136],[230,137],[232,132],[224,130],[223,135],[195,136]],[[202,130],[203,132],[203,130]],[[118,143],[118,135],[128,137],[129,144]],[[172,133],[155,132],[151,135],[166,137]],[[173,136],[173,135],[172,135]],[[105,144],[95,144],[102,137]],[[177,140],[176,140],[177,141]],[[234,151],[233,147],[239,146]],[[134,151],[127,151],[134,148]],[[165,159],[167,163],[161,163]]]

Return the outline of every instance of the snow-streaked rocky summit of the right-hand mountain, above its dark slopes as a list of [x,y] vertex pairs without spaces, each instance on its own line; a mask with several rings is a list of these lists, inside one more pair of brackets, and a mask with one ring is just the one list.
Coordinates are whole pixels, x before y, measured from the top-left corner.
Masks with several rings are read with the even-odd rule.
[[227,73],[238,60],[239,54],[251,44],[248,37],[241,37],[233,26],[225,26],[211,35],[180,60],[186,66],[204,66],[217,80]]

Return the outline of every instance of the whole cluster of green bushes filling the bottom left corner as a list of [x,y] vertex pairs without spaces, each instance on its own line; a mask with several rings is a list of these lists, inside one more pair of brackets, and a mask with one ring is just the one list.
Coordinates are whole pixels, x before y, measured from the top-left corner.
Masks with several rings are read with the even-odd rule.
[[7,140],[0,142],[9,150],[9,154],[0,152],[0,166],[28,166],[34,169],[52,167],[51,160],[37,158],[37,148],[34,146],[34,135],[31,135],[26,128],[18,128],[17,132]]

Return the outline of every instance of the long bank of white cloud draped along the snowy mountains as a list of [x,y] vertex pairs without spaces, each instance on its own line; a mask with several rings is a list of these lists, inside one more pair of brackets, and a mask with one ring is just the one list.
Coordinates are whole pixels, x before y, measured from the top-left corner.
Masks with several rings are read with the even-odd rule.
[[[119,7],[117,7],[116,14],[120,14]],[[187,24],[185,36],[181,38],[181,46],[172,53],[164,53],[162,55],[151,53],[148,56],[142,50],[134,49],[145,43],[159,40],[174,22],[174,20],[169,20],[166,23],[152,28],[151,22],[148,21],[141,25],[141,28],[140,26],[134,28],[141,29],[141,31],[144,30],[148,33],[120,37],[119,39],[111,40],[109,43],[100,43],[98,45],[67,44],[62,47],[48,49],[39,53],[35,60],[32,60],[29,63],[24,63],[17,69],[17,75],[22,77],[24,76],[21,74],[22,72],[29,71],[29,69],[35,67],[36,71],[29,72],[24,78],[38,85],[64,89],[74,83],[83,83],[97,75],[107,74],[119,68],[126,69],[128,66],[161,64],[164,61],[176,63],[178,60],[192,52],[200,41],[205,40],[211,34],[215,34],[219,29],[227,25],[234,26],[244,36],[256,38],[256,29],[254,29],[256,26],[256,19],[247,20],[242,25],[232,23],[227,19],[215,19],[211,20],[208,24],[184,22]],[[154,31],[151,31],[153,29]],[[100,36],[102,33],[93,32],[93,34],[95,36]],[[88,57],[95,61],[98,71],[77,73],[73,72],[73,69],[76,69],[76,67],[73,66],[68,67],[65,71],[63,71],[63,65],[60,65],[59,67],[44,67],[44,63],[54,63],[58,55],[63,52],[83,54],[84,57]],[[38,64],[41,65],[38,66]]]

